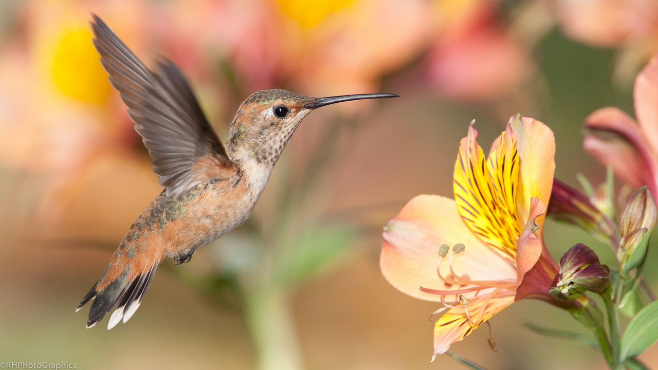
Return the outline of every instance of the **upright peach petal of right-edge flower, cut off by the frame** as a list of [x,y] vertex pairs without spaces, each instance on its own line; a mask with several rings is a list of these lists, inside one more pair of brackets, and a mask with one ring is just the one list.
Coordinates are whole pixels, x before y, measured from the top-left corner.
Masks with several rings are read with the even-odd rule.
[[649,61],[635,79],[635,114],[653,153],[658,153],[658,56]]

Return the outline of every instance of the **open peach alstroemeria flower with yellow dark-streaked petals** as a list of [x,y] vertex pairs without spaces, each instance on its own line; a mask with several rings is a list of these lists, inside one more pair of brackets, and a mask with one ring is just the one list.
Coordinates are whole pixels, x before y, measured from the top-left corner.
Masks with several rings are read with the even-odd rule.
[[[553,132],[513,117],[489,157],[468,128],[455,163],[455,200],[411,199],[384,227],[380,266],[402,292],[440,302],[434,357],[503,308],[549,302],[557,265],[542,238],[555,163]],[[448,248],[449,246],[449,248]],[[432,359],[434,359],[432,357]]]

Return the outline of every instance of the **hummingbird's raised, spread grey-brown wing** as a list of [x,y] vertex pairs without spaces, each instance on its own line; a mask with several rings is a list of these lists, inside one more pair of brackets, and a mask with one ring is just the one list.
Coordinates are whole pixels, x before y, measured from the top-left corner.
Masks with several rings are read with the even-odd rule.
[[178,198],[203,180],[232,175],[235,167],[176,65],[161,61],[152,72],[103,20],[93,18],[93,45],[167,196]]

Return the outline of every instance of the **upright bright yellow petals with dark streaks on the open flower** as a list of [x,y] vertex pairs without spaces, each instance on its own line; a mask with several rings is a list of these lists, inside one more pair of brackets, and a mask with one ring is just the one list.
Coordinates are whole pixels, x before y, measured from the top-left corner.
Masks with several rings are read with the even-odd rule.
[[485,159],[472,123],[461,140],[453,190],[459,215],[486,244],[515,261],[521,223],[517,211],[519,155],[511,128],[501,134]]

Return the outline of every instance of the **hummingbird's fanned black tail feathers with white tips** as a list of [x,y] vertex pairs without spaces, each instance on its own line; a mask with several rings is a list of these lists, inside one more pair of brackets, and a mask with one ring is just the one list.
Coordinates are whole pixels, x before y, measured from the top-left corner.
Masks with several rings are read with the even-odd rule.
[[91,309],[89,309],[87,328],[91,328],[101,321],[117,302],[118,304],[110,317],[107,329],[112,329],[122,318],[124,323],[128,321],[144,299],[144,295],[149,288],[149,284],[151,284],[151,279],[155,274],[158,264],[155,263],[151,266],[151,269],[130,278],[130,267],[124,269],[118,278],[107,284],[105,288],[98,290],[99,283],[105,277],[105,274],[103,274],[98,282],[94,284],[93,288],[89,290],[89,293],[82,298],[82,302],[80,302],[80,305],[76,309],[76,312],[79,311],[84,304],[93,299]]

